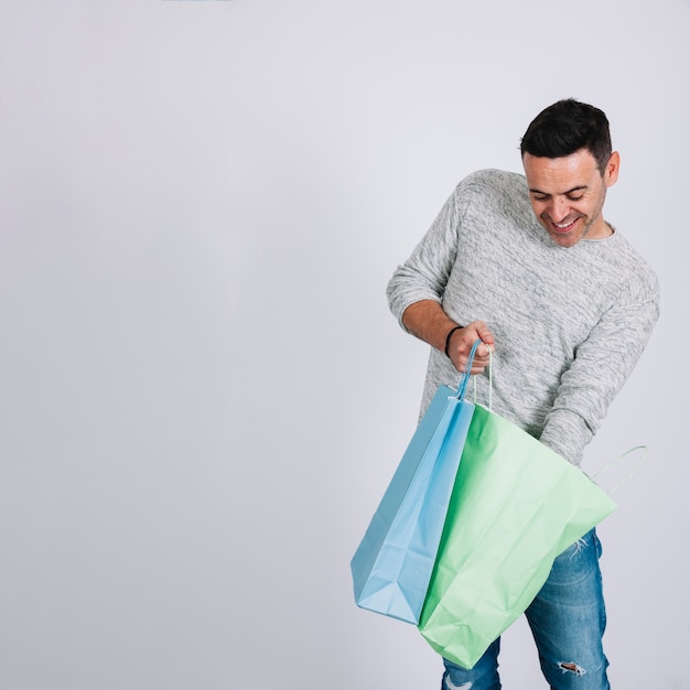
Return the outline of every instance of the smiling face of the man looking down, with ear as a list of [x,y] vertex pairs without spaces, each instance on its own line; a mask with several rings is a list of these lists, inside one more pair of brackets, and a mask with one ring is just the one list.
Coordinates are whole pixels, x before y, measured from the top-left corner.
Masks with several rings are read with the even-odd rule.
[[522,157],[532,211],[554,242],[572,247],[584,237],[612,234],[602,208],[606,190],[618,179],[618,164],[614,152],[602,175],[586,149],[563,158]]

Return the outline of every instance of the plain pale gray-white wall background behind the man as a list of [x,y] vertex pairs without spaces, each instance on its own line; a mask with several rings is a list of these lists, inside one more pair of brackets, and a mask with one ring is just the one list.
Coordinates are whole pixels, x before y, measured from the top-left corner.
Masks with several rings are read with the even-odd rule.
[[[418,690],[349,559],[427,347],[386,283],[456,182],[603,108],[662,316],[585,466],[616,690],[690,688],[688,0],[3,2],[0,686]],[[584,278],[583,278],[584,279]],[[615,477],[610,477],[615,483]],[[546,688],[522,622],[509,689]]]

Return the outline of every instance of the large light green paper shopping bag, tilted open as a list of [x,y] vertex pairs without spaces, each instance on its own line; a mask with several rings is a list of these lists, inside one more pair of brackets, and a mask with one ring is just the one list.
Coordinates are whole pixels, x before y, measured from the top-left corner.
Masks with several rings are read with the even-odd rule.
[[556,557],[616,508],[580,468],[476,405],[419,629],[472,668],[529,606]]

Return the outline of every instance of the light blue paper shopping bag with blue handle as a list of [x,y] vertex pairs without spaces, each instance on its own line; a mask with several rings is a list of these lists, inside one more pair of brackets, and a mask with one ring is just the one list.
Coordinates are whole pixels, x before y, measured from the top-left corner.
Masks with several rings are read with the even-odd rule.
[[474,411],[464,395],[476,346],[457,390],[436,390],[352,559],[362,608],[419,623]]

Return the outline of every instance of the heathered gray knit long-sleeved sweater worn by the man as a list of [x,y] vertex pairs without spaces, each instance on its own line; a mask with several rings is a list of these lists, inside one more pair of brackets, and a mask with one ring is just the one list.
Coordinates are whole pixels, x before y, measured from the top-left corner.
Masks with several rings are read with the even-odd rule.
[[[419,300],[484,321],[495,337],[493,409],[579,464],[637,363],[659,315],[653,269],[615,230],[557,245],[536,219],[522,175],[485,170],[463,180],[388,284],[392,313]],[[422,411],[460,375],[435,348]],[[488,377],[477,376],[486,403]],[[472,390],[472,387],[468,389]]]

